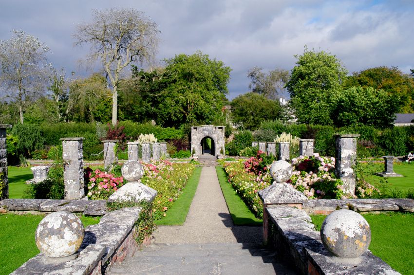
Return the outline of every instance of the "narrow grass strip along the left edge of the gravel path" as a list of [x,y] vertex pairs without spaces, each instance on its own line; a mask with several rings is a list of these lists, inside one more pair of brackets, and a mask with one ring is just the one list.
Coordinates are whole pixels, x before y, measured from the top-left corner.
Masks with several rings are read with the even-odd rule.
[[192,199],[194,198],[195,190],[197,190],[198,182],[200,180],[202,167],[195,167],[193,174],[188,180],[188,183],[183,189],[183,194],[172,204],[167,211],[167,216],[156,220],[156,225],[183,225],[187,219],[188,210]]

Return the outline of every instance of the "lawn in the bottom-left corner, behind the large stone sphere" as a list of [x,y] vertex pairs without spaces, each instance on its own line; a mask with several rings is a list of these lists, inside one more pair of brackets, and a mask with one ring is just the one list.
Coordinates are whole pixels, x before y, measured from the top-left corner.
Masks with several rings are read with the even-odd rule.
[[[30,170],[30,169],[29,169]],[[35,232],[42,215],[0,214],[0,274],[9,274],[31,257],[38,255]],[[99,218],[80,217],[83,226],[96,224]]]

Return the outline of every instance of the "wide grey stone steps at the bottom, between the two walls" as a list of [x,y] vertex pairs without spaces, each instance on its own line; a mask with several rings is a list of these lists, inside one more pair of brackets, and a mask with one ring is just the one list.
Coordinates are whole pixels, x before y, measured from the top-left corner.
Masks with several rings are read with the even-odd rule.
[[106,274],[293,274],[258,243],[154,244]]

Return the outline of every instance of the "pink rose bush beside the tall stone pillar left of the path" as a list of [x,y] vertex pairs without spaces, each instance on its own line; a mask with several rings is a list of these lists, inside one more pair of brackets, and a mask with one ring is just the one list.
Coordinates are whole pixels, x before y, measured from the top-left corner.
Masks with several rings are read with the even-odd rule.
[[113,174],[86,168],[84,173],[85,183],[88,186],[87,196],[91,200],[107,200],[109,196],[124,184],[123,177],[115,177]]

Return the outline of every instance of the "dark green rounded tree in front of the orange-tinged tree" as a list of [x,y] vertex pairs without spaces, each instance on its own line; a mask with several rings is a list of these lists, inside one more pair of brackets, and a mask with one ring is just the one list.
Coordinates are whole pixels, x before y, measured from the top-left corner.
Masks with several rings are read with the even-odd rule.
[[400,100],[382,89],[351,87],[340,92],[333,112],[335,125],[373,125],[386,128],[394,124]]

